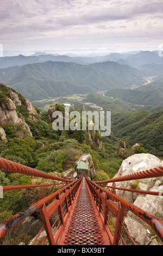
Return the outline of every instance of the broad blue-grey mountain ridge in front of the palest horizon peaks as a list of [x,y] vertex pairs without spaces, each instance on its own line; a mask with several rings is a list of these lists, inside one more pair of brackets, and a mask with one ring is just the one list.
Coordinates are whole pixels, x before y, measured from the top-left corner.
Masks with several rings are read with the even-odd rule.
[[116,62],[81,65],[52,61],[0,69],[0,81],[30,101],[144,83],[141,72]]

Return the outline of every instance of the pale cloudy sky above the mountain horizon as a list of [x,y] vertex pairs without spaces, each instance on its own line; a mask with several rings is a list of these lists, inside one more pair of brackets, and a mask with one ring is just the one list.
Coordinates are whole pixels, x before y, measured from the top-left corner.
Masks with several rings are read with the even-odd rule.
[[121,52],[156,50],[163,44],[162,0],[0,0],[0,4],[0,51]]

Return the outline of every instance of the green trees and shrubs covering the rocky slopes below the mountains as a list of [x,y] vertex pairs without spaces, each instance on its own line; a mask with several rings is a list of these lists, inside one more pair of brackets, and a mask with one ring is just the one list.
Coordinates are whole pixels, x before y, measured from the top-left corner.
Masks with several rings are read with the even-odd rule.
[[[92,102],[99,103],[100,106],[109,111],[111,109],[108,107],[112,107],[111,135],[109,137],[102,137],[93,131],[54,131],[52,128],[54,119],[50,111],[40,113],[37,107],[33,106],[34,108],[32,108],[30,105],[29,108],[29,103],[27,104],[25,97],[3,84],[0,85],[0,90],[0,108],[6,113],[9,111],[16,113],[19,118],[17,120],[24,122],[14,123],[11,122],[11,119],[1,120],[0,125],[5,131],[6,139],[0,141],[0,156],[5,159],[62,176],[66,170],[75,168],[75,163],[81,155],[90,153],[96,169],[94,179],[106,180],[117,173],[122,161],[130,154],[131,147],[135,143],[139,143],[135,147],[134,152],[136,154],[152,153],[159,157],[163,156],[162,111],[134,111],[133,106],[125,106],[123,101],[115,100],[112,105],[109,97],[93,94],[91,97],[88,96],[85,101],[91,99]],[[15,108],[11,110],[7,108],[7,99],[11,99],[10,92],[16,94],[18,101],[21,102],[15,101]],[[53,107],[64,114],[62,104],[58,103]],[[120,108],[122,111],[118,113]],[[81,113],[82,108],[74,110]],[[24,126],[24,124],[26,125]],[[26,127],[28,130],[22,133]],[[118,155],[122,138],[126,142],[125,154]],[[37,184],[38,182],[45,181],[32,176],[0,171],[0,184],[2,186]],[[15,190],[12,193],[5,191],[4,198],[0,201],[0,222],[51,192],[47,187]]]

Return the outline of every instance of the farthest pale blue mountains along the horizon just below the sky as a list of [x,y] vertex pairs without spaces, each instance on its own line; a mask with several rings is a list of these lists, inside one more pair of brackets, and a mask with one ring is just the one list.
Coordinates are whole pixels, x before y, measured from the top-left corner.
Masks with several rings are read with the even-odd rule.
[[118,62],[123,65],[130,65],[138,68],[145,64],[163,64],[163,57],[159,57],[158,52],[140,51],[133,53],[110,53],[106,56],[81,57],[75,56],[72,53],[65,55],[48,54],[46,52],[36,52],[32,56],[5,56],[0,58],[0,69],[9,68],[10,66],[22,66],[33,64],[36,62],[74,62],[78,64],[91,64],[97,62]]

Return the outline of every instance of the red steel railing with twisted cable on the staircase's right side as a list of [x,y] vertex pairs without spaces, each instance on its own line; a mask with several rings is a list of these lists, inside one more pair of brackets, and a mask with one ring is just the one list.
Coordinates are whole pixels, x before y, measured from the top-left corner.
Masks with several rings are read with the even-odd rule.
[[[115,193],[112,193],[108,189],[104,189],[103,187],[112,188],[112,191],[115,189],[125,190],[130,192],[139,192],[144,194],[153,194],[155,196],[163,196],[163,192],[154,192],[154,191],[142,191],[142,190],[130,190],[126,188],[119,188],[114,186],[105,186],[102,184],[106,184],[109,182],[116,182],[116,181],[126,181],[126,180],[136,180],[136,179],[145,179],[145,178],[154,178],[158,176],[163,176],[163,167],[153,168],[150,170],[144,170],[139,173],[129,174],[120,176],[117,178],[112,178],[110,180],[101,180],[100,181],[90,181],[86,178],[87,184],[90,187],[92,197],[95,200],[96,206],[99,211],[99,216],[103,222],[103,226],[106,232],[106,235],[109,238],[111,245],[127,245],[124,239],[124,233],[130,239],[133,245],[136,245],[135,241],[132,239],[128,230],[123,224],[124,214],[126,209],[133,212],[137,217],[141,220],[149,224],[155,233],[160,237],[161,241],[163,242],[163,222],[158,218],[152,216],[146,211],[138,208],[136,205],[129,203],[127,200],[117,196]],[[99,185],[98,185],[99,184]],[[103,186],[103,187],[102,187]],[[117,202],[117,203],[115,203]],[[116,218],[116,223],[112,220]],[[123,234],[122,234],[123,233]],[[120,242],[121,241],[121,242]]]

